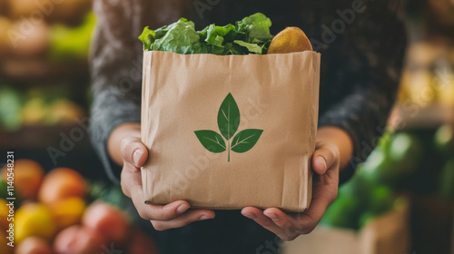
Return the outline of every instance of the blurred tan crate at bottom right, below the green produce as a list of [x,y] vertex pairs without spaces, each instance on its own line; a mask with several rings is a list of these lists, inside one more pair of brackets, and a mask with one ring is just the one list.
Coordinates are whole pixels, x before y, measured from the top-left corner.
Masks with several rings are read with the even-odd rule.
[[360,231],[317,227],[282,244],[283,254],[404,254],[410,250],[409,201],[370,220]]

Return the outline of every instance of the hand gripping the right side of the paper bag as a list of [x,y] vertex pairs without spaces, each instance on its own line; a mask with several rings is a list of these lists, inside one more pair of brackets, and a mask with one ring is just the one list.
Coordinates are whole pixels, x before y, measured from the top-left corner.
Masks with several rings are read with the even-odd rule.
[[301,213],[286,213],[277,208],[260,210],[246,207],[242,209],[242,215],[255,220],[282,240],[292,240],[301,234],[310,233],[320,222],[325,210],[336,200],[340,168],[345,166],[345,161],[350,160],[351,150],[347,133],[335,127],[326,127],[318,132],[316,149],[311,159],[315,174],[309,209]]

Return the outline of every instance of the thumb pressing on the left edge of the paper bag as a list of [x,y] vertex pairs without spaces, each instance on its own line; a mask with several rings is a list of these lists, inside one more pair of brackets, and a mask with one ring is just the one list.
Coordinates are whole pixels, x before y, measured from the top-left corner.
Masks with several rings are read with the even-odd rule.
[[125,163],[140,168],[148,159],[148,150],[139,138],[126,138],[122,142],[122,155]]

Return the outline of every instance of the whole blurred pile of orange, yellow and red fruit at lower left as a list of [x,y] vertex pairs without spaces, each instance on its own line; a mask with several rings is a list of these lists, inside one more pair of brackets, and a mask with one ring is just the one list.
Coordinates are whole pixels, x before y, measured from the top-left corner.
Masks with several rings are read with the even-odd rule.
[[69,168],[45,174],[39,163],[26,159],[15,161],[15,248],[3,244],[10,171],[5,167],[1,173],[0,253],[99,254],[113,247],[122,253],[157,253],[153,239],[124,209],[121,190],[89,183]]

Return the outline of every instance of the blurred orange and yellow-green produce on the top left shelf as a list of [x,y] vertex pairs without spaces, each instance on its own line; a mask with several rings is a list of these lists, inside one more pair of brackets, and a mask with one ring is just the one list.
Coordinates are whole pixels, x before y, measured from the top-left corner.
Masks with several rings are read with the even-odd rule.
[[[0,34],[0,55],[53,61],[87,59],[95,21],[91,0],[7,2],[7,12],[0,13],[1,31],[8,32]],[[39,14],[44,18],[36,19]]]

